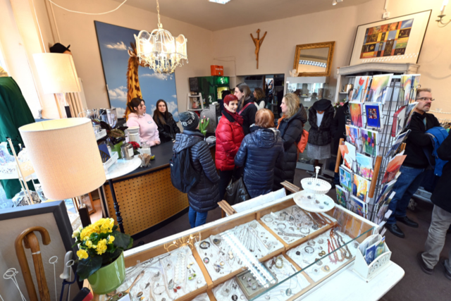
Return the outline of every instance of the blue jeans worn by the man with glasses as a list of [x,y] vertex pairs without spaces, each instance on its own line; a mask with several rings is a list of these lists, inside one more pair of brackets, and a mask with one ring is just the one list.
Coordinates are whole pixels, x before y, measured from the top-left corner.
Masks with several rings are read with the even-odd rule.
[[418,190],[424,178],[424,168],[401,166],[400,171],[401,175],[397,178],[392,190],[396,192],[395,197],[388,204],[388,209],[392,211],[387,221],[390,225],[396,223],[397,217],[407,216],[410,198]]

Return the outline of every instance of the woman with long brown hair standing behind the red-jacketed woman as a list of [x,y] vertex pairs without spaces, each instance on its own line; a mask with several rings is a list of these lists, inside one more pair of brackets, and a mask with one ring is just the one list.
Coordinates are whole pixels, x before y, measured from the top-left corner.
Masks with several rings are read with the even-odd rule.
[[242,130],[245,135],[249,134],[249,127],[255,123],[255,114],[257,106],[254,104],[255,99],[251,94],[249,86],[242,82],[235,87],[234,95],[238,99],[238,114],[242,117]]

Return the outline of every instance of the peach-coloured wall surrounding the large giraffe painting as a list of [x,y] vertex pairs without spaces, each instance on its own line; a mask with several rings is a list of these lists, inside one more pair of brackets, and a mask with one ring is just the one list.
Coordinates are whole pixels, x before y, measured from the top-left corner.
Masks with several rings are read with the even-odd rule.
[[[102,12],[109,11],[118,2],[104,1],[68,1],[61,0],[58,4],[75,11]],[[88,16],[69,13],[54,7],[56,24],[61,36],[61,44],[70,44],[75,68],[78,76],[83,80],[83,88],[87,106],[89,108],[109,107],[106,83],[101,66],[97,35],[94,20],[104,23],[132,28],[135,30],[152,31],[157,27],[156,13],[124,5],[114,13],[101,16]],[[164,11],[161,11],[164,14]],[[210,73],[211,65],[211,35],[212,32],[187,23],[161,16],[163,28],[169,30],[173,36],[180,34],[187,37],[187,54],[189,63],[175,70],[177,99],[179,111],[186,111],[187,92],[189,92],[188,78],[205,76]],[[124,73],[125,80],[125,73]]]

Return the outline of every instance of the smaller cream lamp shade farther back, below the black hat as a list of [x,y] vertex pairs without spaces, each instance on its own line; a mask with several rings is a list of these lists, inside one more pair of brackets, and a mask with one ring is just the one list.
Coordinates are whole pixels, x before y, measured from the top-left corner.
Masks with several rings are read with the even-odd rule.
[[44,93],[80,92],[77,70],[70,54],[33,54]]

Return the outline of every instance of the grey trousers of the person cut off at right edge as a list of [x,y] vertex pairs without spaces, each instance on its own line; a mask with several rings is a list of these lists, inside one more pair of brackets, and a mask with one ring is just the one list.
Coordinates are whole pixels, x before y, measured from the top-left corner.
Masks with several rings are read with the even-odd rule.
[[[433,269],[435,264],[438,263],[440,252],[442,252],[443,246],[445,245],[446,233],[448,228],[450,228],[450,225],[451,213],[441,209],[438,206],[434,206],[428,239],[424,244],[426,246],[426,251],[421,254],[424,263],[429,269]],[[449,259],[445,261],[445,269],[451,273],[451,249],[448,258]]]

